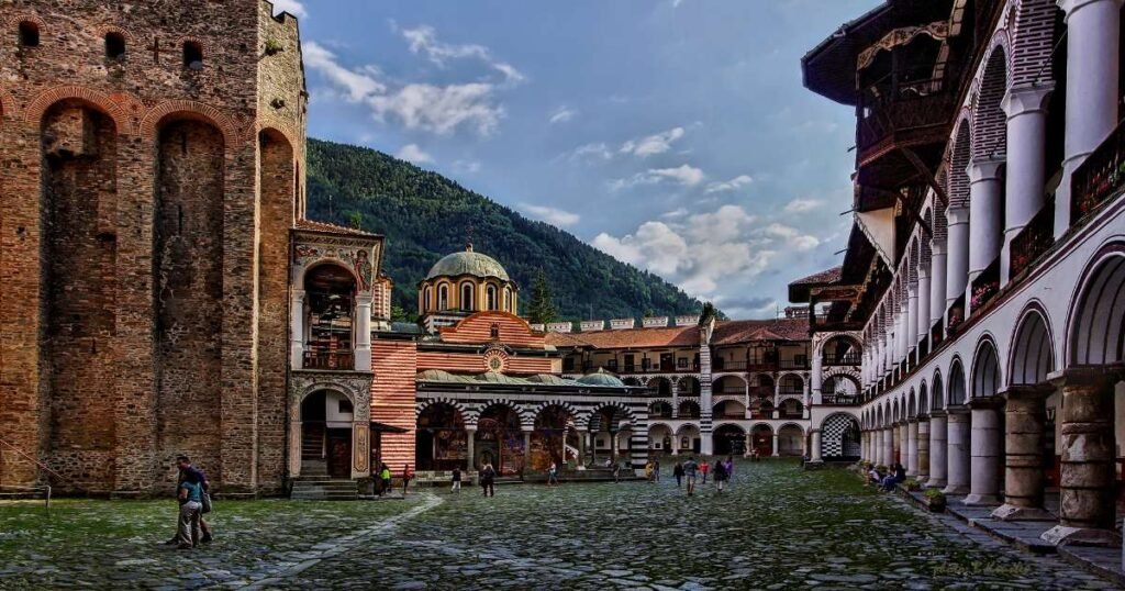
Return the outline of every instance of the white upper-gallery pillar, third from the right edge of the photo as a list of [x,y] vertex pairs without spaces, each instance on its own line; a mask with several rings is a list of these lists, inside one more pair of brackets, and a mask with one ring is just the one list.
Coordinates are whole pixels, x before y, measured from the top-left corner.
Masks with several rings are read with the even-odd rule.
[[[1000,256],[1004,245],[1002,158],[974,159],[969,164],[969,285]],[[965,317],[969,302],[965,295]]]

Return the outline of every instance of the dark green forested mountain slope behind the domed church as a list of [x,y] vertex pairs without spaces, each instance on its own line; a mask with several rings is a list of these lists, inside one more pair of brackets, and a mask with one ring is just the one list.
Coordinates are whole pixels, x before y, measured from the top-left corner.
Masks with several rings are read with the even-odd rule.
[[524,306],[547,274],[559,320],[698,314],[702,304],[660,277],[626,265],[557,227],[528,220],[441,174],[369,150],[308,141],[308,217],[384,234],[394,302],[416,312],[417,281],[441,257],[492,256],[521,287]]

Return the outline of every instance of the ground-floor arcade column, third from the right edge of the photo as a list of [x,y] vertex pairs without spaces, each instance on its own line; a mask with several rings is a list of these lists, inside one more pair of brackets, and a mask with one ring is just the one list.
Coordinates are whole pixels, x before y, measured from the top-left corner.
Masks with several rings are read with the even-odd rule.
[[970,403],[970,483],[965,504],[1000,504],[1000,475],[1004,460],[1004,433],[1000,431],[1000,404],[992,399]]

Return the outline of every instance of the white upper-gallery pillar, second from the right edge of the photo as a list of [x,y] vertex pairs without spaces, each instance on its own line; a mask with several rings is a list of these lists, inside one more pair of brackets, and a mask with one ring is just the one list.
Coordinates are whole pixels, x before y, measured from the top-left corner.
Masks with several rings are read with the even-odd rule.
[[1008,115],[1001,287],[1008,284],[1011,274],[1011,239],[1040,213],[1046,200],[1047,100],[1053,90],[1054,82],[1011,88],[1001,102]]

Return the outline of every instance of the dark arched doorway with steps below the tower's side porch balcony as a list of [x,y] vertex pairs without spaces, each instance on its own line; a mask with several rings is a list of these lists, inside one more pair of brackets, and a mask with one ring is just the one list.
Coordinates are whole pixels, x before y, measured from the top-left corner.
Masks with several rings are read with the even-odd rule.
[[354,412],[351,399],[335,391],[317,391],[302,401],[303,476],[351,477]]

